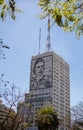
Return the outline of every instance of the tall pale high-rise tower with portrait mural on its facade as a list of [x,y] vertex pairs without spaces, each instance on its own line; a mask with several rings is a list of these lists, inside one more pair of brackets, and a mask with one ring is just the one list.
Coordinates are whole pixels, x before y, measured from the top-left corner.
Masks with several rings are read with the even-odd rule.
[[32,126],[35,130],[37,110],[53,106],[62,120],[59,130],[70,127],[69,65],[54,52],[33,56],[30,69],[30,91],[25,102],[32,105]]

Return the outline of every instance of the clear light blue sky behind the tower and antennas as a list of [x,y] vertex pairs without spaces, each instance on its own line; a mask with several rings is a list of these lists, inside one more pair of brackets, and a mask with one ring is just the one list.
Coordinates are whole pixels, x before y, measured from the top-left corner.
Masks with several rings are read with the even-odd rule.
[[[10,46],[5,50],[6,59],[0,60],[0,73],[22,91],[29,90],[30,61],[38,54],[39,28],[41,27],[41,53],[45,52],[47,20],[40,20],[38,0],[18,0],[23,13],[13,21],[7,17],[0,21],[0,38]],[[75,33],[64,32],[61,28],[51,28],[51,48],[70,65],[71,106],[83,99],[83,36],[77,40]]]

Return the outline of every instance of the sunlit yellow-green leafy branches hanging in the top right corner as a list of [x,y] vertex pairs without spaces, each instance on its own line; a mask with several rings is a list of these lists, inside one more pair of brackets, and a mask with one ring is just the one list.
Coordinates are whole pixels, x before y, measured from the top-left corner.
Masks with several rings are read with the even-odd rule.
[[50,14],[51,23],[57,24],[64,31],[75,31],[77,38],[83,35],[82,0],[39,0],[41,19]]

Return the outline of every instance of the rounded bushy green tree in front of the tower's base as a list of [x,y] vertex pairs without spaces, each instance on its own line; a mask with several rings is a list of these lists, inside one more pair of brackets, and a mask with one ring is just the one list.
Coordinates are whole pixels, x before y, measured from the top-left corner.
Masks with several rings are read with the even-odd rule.
[[38,111],[36,124],[39,130],[57,130],[59,126],[58,115],[54,108],[41,108]]

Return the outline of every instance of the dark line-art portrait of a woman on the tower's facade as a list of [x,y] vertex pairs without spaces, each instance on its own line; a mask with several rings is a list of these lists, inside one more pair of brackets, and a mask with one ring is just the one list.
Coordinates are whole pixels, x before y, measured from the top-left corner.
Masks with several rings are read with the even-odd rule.
[[45,61],[42,58],[35,60],[31,75],[31,89],[48,88],[52,86],[50,75],[46,74]]

